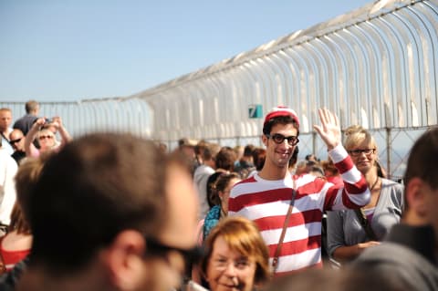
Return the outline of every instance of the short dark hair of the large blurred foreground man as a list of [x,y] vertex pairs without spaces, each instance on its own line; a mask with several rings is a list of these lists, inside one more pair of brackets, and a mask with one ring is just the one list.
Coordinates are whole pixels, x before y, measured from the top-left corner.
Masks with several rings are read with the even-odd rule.
[[46,162],[30,195],[30,264],[68,274],[122,230],[158,234],[167,157],[153,141],[130,134],[96,133],[68,143]]

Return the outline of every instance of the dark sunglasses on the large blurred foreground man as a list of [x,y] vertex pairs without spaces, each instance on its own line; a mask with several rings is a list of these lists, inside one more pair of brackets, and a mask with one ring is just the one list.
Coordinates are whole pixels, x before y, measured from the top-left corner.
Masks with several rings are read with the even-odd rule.
[[163,244],[152,237],[145,237],[146,240],[146,254],[145,256],[162,256],[166,257],[169,252],[177,252],[183,255],[186,263],[197,263],[203,256],[203,248],[194,246],[190,249],[183,249],[177,246]]

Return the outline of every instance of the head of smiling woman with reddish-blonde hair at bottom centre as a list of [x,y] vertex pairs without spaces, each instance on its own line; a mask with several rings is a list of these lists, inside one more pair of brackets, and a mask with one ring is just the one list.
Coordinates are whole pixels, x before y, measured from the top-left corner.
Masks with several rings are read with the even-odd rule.
[[201,268],[211,291],[252,291],[270,278],[268,249],[255,223],[227,217],[205,242]]

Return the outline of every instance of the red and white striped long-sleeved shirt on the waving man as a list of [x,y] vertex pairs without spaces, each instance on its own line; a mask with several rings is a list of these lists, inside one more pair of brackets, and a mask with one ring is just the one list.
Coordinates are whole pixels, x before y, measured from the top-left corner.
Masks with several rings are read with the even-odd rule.
[[235,184],[230,193],[228,214],[255,221],[269,248],[272,263],[295,185],[297,196],[276,275],[321,266],[322,213],[359,208],[370,201],[367,182],[342,145],[328,151],[328,154],[342,176],[344,188],[309,174],[292,177],[287,171],[284,179],[276,181],[267,181],[255,174]]

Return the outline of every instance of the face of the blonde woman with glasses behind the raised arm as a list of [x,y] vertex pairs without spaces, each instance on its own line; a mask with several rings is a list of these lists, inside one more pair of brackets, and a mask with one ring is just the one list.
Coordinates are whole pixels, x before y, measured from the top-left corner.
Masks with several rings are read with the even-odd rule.
[[356,168],[358,168],[362,174],[366,174],[374,168],[378,156],[375,145],[363,140],[358,145],[351,147],[348,151],[351,160],[353,160]]

